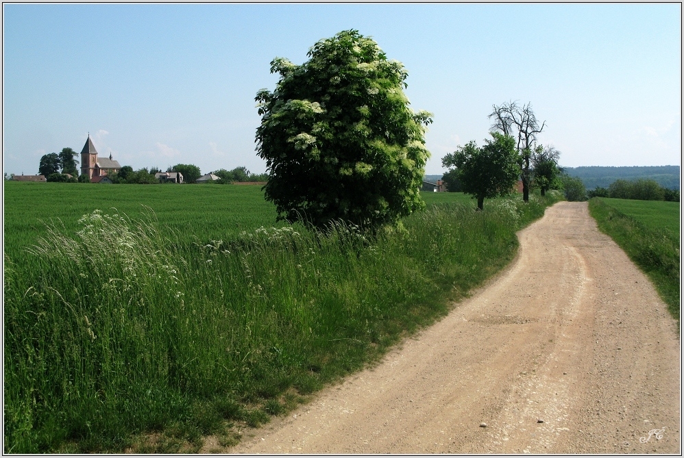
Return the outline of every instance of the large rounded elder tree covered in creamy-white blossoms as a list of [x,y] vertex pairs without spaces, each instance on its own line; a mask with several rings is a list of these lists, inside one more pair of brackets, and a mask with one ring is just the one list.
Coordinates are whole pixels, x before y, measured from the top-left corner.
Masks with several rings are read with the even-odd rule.
[[320,40],[307,55],[302,65],[274,59],[276,90],[256,95],[257,151],[278,218],[374,230],[422,209],[432,115],[408,107],[404,66],[356,30]]

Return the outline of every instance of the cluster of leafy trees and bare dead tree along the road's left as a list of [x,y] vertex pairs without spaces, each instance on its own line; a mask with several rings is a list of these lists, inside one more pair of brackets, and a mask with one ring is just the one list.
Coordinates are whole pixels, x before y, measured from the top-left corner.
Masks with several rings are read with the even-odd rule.
[[537,133],[546,123],[539,127],[530,103],[522,107],[516,102],[503,103],[492,109],[493,140],[485,140],[481,148],[469,142],[442,158],[442,165],[451,167],[443,177],[447,188],[471,194],[478,200],[478,209],[483,209],[485,199],[509,194],[518,179],[525,202],[529,201],[530,186],[539,188],[541,195],[562,188],[561,153],[537,144]]

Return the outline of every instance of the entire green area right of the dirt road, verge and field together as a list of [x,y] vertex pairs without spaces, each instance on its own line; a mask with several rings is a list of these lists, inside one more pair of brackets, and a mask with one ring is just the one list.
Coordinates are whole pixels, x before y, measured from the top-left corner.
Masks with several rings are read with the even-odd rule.
[[679,203],[594,197],[589,200],[589,212],[599,229],[611,236],[644,270],[668,305],[672,317],[679,321],[679,224],[676,231],[673,230],[674,221],[679,223]]

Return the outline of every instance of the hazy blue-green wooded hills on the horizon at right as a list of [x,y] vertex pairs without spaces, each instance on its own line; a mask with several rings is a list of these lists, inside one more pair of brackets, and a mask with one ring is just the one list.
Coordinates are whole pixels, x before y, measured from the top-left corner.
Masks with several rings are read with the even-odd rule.
[[567,175],[581,179],[587,189],[608,188],[618,179],[652,179],[663,188],[679,190],[679,166],[564,167],[563,170]]

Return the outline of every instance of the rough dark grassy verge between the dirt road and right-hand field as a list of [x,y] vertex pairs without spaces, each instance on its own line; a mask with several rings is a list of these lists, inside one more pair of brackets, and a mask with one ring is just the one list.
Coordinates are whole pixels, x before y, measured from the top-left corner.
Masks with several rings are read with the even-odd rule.
[[672,317],[680,320],[679,233],[652,227],[620,212],[603,199],[589,200],[598,228],[627,253],[655,285]]

